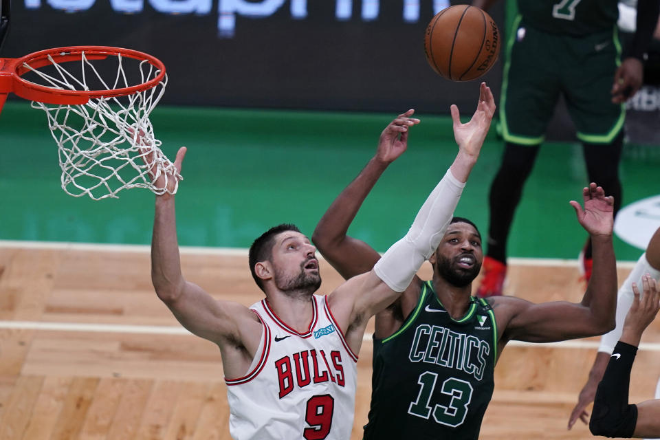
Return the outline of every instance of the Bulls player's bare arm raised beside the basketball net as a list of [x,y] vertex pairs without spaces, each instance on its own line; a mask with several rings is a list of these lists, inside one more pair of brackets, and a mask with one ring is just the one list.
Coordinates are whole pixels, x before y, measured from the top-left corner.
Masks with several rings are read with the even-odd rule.
[[[175,168],[179,173],[185,155],[186,148],[183,147],[175,160]],[[164,184],[164,176],[155,181],[157,188],[162,188]],[[174,185],[171,176],[167,184]],[[257,338],[261,335],[261,325],[247,307],[214,300],[201,287],[184,279],[177,243],[175,196],[167,192],[156,196],[151,241],[151,281],[158,298],[167,305],[181,325],[191,333],[215,342],[221,349],[228,340],[240,340],[250,346],[243,338],[246,333],[252,332]],[[252,345],[258,342],[252,341]],[[254,353],[256,347],[248,347],[248,350]],[[238,377],[244,373],[245,362],[249,365],[251,357],[236,353],[225,356],[226,352],[223,351],[225,375]]]

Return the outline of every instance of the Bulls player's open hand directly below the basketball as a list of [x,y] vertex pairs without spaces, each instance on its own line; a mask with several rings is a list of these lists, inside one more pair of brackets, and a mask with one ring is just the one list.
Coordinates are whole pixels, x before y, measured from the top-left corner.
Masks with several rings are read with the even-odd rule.
[[454,139],[456,144],[459,144],[459,150],[468,155],[478,156],[495,114],[495,100],[490,87],[486,83],[481,83],[479,102],[469,122],[461,123],[459,108],[455,104],[452,104],[451,111]]

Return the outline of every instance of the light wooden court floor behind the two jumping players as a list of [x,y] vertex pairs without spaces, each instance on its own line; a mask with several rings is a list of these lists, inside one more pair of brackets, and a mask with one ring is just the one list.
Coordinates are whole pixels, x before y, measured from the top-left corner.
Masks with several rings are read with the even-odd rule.
[[[261,299],[245,252],[186,249],[181,259],[186,278],[215,298]],[[509,294],[580,300],[575,263],[523,263],[511,265]],[[329,292],[340,277],[325,262],[321,271]],[[658,320],[633,369],[635,401],[654,393],[657,342]],[[595,347],[597,338],[510,344],[481,439],[592,438],[566,421]],[[358,375],[353,440],[369,408],[369,338]],[[219,351],[184,331],[155,296],[146,247],[0,243],[0,439],[230,439]]]

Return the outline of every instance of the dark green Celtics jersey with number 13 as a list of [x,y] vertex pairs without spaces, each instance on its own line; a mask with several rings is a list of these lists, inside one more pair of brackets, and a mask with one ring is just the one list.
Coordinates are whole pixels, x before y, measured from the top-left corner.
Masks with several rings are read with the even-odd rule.
[[401,329],[373,344],[365,440],[476,440],[493,394],[497,329],[491,307],[470,298],[454,320],[432,283]]

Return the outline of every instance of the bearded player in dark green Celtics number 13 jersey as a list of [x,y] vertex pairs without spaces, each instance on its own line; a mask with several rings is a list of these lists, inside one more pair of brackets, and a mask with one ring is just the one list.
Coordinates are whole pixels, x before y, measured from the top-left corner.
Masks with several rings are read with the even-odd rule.
[[[494,112],[494,104],[492,111]],[[333,201],[312,241],[344,278],[369,272],[380,254],[347,236],[362,201],[385,168],[407,148],[419,120],[399,115],[382,132],[373,159]],[[458,139],[469,124],[454,118]],[[483,260],[476,226],[454,218],[430,256],[432,281],[417,276],[376,315],[371,410],[364,439],[477,439],[493,392],[493,369],[509,340],[551,342],[605,333],[615,325],[617,275],[612,245],[613,199],[584,188],[584,209],[571,201],[593,240],[593,277],[580,303],[533,304],[512,296],[475,298]]]

